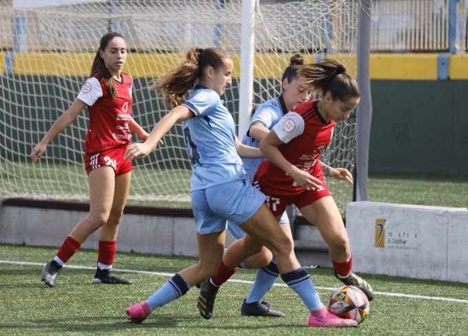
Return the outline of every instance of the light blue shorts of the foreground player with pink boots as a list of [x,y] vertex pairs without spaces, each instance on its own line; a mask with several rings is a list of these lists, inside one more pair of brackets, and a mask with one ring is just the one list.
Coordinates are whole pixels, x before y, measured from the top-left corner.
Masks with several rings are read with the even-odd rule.
[[226,230],[226,220],[237,225],[246,222],[266,200],[262,191],[246,180],[195,190],[191,196],[195,228],[202,235]]

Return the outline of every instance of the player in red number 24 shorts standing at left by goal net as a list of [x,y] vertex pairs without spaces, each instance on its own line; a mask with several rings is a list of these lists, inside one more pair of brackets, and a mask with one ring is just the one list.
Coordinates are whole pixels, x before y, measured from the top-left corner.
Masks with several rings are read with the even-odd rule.
[[148,133],[131,117],[133,78],[122,72],[127,59],[123,35],[109,32],[91,67],[91,74],[72,105],[57,118],[41,142],[32,149],[34,162],[47,144],[87,107],[89,127],[85,138],[85,169],[89,178],[89,215],[65,238],[54,259],[43,267],[42,281],[56,284],[56,277],[81,244],[99,229],[98,267],[95,284],[131,284],[110,272],[116,254],[118,224],[129,193],[131,161],[124,158],[131,132],[145,140]]

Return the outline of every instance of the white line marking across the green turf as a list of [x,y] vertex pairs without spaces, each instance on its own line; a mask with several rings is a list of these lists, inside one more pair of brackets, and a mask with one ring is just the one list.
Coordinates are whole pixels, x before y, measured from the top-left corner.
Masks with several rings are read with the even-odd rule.
[[[43,262],[22,262],[19,260],[0,260],[0,264],[14,264],[14,265],[25,265],[25,266],[43,266]],[[91,266],[79,266],[79,265],[64,265],[67,269],[96,269],[96,267]],[[138,271],[134,269],[113,269],[117,272],[125,272],[125,273],[138,273],[138,274],[149,274],[149,275],[158,275],[164,277],[171,277],[174,273],[165,273],[165,272],[154,272],[154,271]],[[229,282],[237,282],[241,284],[253,284],[253,281],[249,280],[236,280],[236,279],[229,279]],[[273,286],[280,286],[286,287],[286,284],[273,284]],[[333,291],[334,287],[321,287],[315,286],[317,289]],[[427,295],[413,295],[413,294],[405,294],[405,293],[390,293],[390,292],[379,292],[374,291],[375,294],[378,295],[386,295],[386,296],[395,296],[395,297],[408,297],[410,299],[421,299],[421,300],[436,300],[436,301],[447,301],[447,302],[460,302],[464,304],[468,304],[468,300],[464,299],[456,299],[454,297],[438,297],[438,296],[427,296]]]

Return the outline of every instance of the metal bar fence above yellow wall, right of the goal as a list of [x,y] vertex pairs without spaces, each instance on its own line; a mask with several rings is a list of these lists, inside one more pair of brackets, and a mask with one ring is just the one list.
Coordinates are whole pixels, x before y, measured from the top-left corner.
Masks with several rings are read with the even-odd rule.
[[373,52],[467,52],[468,0],[374,0]]

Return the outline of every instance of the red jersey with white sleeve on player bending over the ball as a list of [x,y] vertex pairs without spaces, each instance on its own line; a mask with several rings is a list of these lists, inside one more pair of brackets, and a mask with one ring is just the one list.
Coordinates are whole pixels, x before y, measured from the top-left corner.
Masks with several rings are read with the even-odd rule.
[[[284,158],[299,169],[323,180],[321,152],[330,144],[334,121],[326,121],[319,114],[317,99],[306,101],[294,109],[273,127],[278,138],[284,142],[279,151]],[[262,162],[254,180],[262,180],[262,185],[275,189],[275,195],[295,195],[304,191],[283,170],[270,160]],[[268,193],[270,194],[270,193]]]

